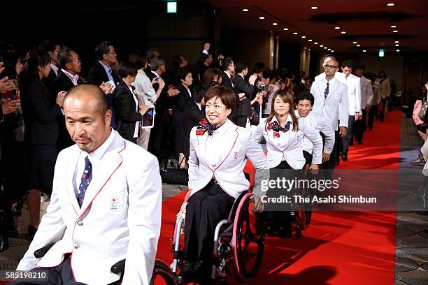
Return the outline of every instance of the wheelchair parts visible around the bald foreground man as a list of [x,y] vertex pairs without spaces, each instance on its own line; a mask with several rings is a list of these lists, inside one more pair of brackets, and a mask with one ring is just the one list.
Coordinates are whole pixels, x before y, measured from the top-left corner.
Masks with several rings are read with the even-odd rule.
[[[53,246],[53,244],[48,244],[45,247],[42,247],[41,249],[37,249],[34,251],[34,257],[36,258],[42,258],[45,256],[45,254],[49,251],[49,249]],[[117,263],[113,264],[110,268],[110,271],[112,273],[115,273],[117,275],[120,275],[120,282],[122,282],[123,279],[123,273],[125,268],[125,260],[118,261]],[[155,260],[155,268],[153,268],[153,274],[152,279],[150,281],[150,285],[155,284],[163,284],[163,285],[176,285],[176,277],[173,275],[173,272],[171,272],[171,269],[169,268],[168,264],[166,264],[164,261],[161,261],[160,259]]]

